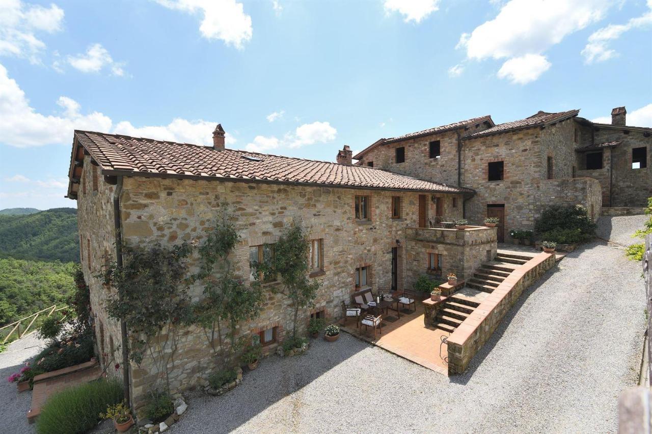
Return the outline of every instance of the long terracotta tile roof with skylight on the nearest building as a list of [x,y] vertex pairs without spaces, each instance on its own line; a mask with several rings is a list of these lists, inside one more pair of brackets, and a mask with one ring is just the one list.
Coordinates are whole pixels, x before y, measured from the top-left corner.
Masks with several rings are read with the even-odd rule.
[[90,131],[76,130],[75,137],[78,144],[100,165],[104,175],[260,180],[443,193],[471,191],[372,167],[345,166],[235,149],[216,151],[213,147],[201,145]]

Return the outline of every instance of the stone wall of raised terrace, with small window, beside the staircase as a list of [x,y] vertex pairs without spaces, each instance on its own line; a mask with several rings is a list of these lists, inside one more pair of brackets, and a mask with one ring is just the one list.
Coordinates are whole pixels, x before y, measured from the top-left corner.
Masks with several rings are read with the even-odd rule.
[[406,288],[428,272],[428,253],[441,255],[441,276],[468,279],[484,261],[496,256],[496,228],[406,229]]

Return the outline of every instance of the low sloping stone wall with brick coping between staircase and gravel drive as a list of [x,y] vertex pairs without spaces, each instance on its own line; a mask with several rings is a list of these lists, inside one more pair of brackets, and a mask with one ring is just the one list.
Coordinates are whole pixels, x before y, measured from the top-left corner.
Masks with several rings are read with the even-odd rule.
[[449,375],[463,373],[524,289],[554,267],[554,253],[539,253],[514,270],[448,338]]

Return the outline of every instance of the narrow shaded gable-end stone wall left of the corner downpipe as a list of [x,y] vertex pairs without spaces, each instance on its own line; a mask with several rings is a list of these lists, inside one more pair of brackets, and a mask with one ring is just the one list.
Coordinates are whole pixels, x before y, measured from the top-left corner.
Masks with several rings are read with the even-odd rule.
[[[85,156],[77,199],[77,224],[80,234],[80,261],[86,283],[91,292],[91,310],[94,315],[94,329],[100,363],[104,368],[121,363],[121,333],[119,321],[110,319],[104,310],[104,300],[109,289],[97,277],[101,273],[109,255],[115,260],[115,229],[113,225],[113,193],[115,186],[104,182],[97,173],[97,191],[93,191],[93,165],[91,158]],[[90,249],[89,249],[90,246]],[[89,256],[90,252],[90,256]],[[113,352],[111,352],[111,341]],[[122,368],[121,368],[122,369]],[[108,373],[121,375],[121,369],[107,369]]]

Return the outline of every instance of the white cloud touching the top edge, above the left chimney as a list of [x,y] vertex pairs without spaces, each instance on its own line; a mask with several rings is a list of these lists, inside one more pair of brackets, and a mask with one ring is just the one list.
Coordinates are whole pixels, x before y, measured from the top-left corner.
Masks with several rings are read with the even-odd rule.
[[220,39],[239,50],[252,37],[251,17],[235,0],[155,0],[170,9],[203,14],[200,32],[204,38]]

